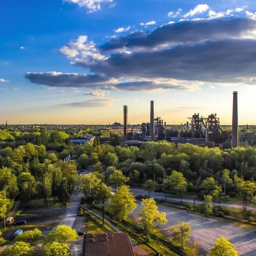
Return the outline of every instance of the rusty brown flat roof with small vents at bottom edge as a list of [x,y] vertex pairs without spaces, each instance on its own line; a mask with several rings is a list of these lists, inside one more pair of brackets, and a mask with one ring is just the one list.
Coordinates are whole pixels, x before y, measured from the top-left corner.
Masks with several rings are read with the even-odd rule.
[[84,235],[82,256],[135,256],[127,233]]

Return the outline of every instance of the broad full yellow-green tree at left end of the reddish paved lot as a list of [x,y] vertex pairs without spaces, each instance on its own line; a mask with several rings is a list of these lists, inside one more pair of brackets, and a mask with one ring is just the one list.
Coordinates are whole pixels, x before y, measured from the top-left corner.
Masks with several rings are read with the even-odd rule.
[[121,222],[137,207],[135,200],[135,196],[130,193],[129,186],[123,185],[110,198],[108,208],[113,216]]

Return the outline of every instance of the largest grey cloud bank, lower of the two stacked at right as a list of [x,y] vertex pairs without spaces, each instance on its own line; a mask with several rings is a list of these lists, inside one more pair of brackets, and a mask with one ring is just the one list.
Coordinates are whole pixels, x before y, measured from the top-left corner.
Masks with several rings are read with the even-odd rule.
[[240,77],[255,77],[255,57],[256,40],[228,39],[178,45],[161,51],[116,53],[91,70],[110,77],[229,82]]

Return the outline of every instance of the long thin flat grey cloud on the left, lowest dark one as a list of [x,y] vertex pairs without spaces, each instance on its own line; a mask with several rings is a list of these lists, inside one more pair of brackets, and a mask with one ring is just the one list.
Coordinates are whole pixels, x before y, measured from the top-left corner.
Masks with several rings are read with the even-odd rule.
[[103,82],[107,79],[105,76],[99,74],[61,72],[27,72],[25,78],[35,84],[60,87],[92,87],[93,84]]

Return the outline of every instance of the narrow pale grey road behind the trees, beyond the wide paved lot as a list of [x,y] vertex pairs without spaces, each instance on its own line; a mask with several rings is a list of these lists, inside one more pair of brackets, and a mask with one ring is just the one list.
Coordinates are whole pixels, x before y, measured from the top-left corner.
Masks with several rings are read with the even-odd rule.
[[[131,192],[138,196],[138,195],[148,195],[147,191],[144,189],[139,189],[139,188],[130,188]],[[151,192],[150,196],[154,199],[165,199],[165,193],[161,192]],[[174,197],[173,195],[166,193],[166,200],[169,202],[181,202],[180,198]],[[193,203],[193,199],[188,199],[184,198],[182,199],[183,203]],[[199,199],[195,199],[196,204],[201,204],[203,201]],[[219,205],[217,202],[212,202],[212,205]],[[241,204],[233,204],[233,203],[221,203],[223,206],[229,206],[229,207],[234,207],[234,208],[240,208],[242,210],[243,206]],[[247,210],[256,210],[255,206],[247,205]]]

